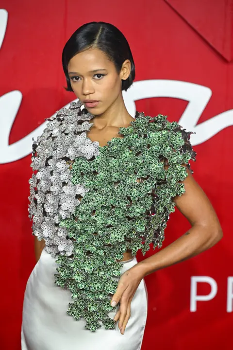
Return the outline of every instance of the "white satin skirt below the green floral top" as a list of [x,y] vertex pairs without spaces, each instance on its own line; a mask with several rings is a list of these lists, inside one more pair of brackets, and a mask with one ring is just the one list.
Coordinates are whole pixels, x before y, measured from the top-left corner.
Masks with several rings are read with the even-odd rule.
[[[140,350],[145,330],[148,293],[141,280],[131,302],[131,317],[121,334],[116,322],[114,330],[102,325],[96,332],[84,328],[85,320],[67,315],[71,293],[54,283],[55,262],[45,249],[28,279],[21,329],[22,350]],[[121,274],[137,263],[133,257],[123,264]],[[116,310],[108,315],[114,318]]]

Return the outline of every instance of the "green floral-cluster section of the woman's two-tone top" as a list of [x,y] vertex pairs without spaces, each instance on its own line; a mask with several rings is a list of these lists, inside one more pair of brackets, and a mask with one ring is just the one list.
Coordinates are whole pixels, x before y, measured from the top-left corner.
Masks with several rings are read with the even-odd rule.
[[123,138],[113,138],[91,159],[75,158],[71,181],[85,184],[88,192],[70,218],[62,220],[73,239],[73,256],[59,255],[55,283],[70,290],[73,302],[68,315],[83,317],[85,328],[114,329],[108,313],[116,292],[127,249],[143,255],[161,247],[172,197],[185,192],[180,183],[187,176],[186,164],[196,160],[189,141],[192,132],[159,114],[151,118],[136,113],[135,121],[120,128]]

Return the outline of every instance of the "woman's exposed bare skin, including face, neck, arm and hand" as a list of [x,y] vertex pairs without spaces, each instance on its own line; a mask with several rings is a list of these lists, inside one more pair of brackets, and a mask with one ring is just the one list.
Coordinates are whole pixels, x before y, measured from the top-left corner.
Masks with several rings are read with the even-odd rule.
[[[98,140],[100,146],[106,145],[113,137],[119,137],[119,127],[128,126],[134,120],[126,109],[121,90],[122,80],[129,77],[130,71],[129,60],[123,62],[118,73],[114,63],[95,48],[76,54],[68,64],[71,87],[76,97],[81,102],[86,99],[100,101],[97,107],[89,110],[95,117],[91,120],[94,125],[87,133],[87,137],[92,141]],[[88,110],[87,107],[86,109]],[[209,199],[190,171],[186,171],[187,177],[183,181],[185,193],[181,197],[174,197],[173,201],[187,218],[191,228],[172,244],[137,263],[120,277],[111,302],[120,302],[115,320],[119,321],[118,328],[122,334],[130,318],[134,293],[145,276],[200,254],[215,245],[223,236]],[[37,258],[43,248],[44,241],[38,242],[35,238]],[[130,258],[131,253],[125,252],[123,261]]]

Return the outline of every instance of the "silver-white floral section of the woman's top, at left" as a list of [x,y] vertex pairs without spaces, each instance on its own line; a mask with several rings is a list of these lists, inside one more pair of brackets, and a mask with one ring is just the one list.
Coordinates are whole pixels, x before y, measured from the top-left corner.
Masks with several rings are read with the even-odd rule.
[[74,213],[80,203],[77,195],[84,196],[88,191],[84,183],[72,183],[67,160],[90,159],[99,154],[99,142],[86,138],[93,116],[86,109],[81,111],[81,105],[73,102],[69,108],[57,111],[48,119],[42,135],[33,140],[29,217],[33,234],[39,241],[45,240],[45,249],[53,257],[72,254],[73,242],[59,223]]

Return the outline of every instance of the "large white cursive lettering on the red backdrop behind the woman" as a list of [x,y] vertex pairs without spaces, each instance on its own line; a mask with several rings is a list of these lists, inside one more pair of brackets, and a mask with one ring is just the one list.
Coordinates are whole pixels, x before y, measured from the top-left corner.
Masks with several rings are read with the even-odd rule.
[[[7,17],[7,11],[1,9],[0,47],[6,32]],[[209,140],[219,131],[233,125],[233,109],[198,124],[211,95],[212,91],[210,88],[189,82],[166,79],[137,81],[133,83],[133,86],[127,92],[123,91],[126,108],[132,116],[135,115],[135,101],[137,100],[154,97],[172,97],[188,101],[188,105],[179,120],[179,124],[187,131],[196,133],[191,135],[193,146]],[[41,135],[43,129],[46,127],[47,122],[44,122],[21,140],[9,144],[9,135],[21,101],[22,93],[18,90],[8,92],[0,97],[0,164],[10,163],[31,154],[32,139],[36,139],[37,136]],[[78,101],[78,99],[74,101]],[[44,118],[49,117],[44,116]]]

